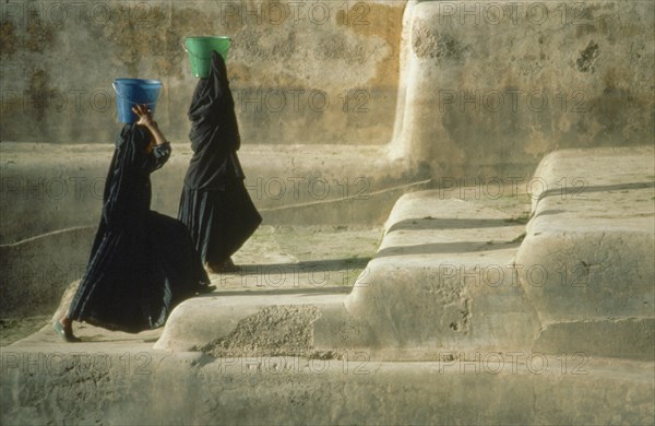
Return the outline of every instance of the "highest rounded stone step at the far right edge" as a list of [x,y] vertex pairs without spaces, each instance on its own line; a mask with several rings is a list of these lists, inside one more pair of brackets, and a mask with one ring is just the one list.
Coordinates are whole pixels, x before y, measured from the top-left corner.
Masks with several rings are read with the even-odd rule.
[[516,263],[535,347],[653,360],[655,149],[565,150],[535,173]]

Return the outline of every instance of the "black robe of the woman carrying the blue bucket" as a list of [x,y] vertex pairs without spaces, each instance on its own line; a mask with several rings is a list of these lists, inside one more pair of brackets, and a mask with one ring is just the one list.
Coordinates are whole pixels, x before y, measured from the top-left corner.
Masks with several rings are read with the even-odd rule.
[[150,174],[170,155],[168,143],[147,153],[151,139],[136,125],[126,125],[117,139],[72,320],[134,333],[154,329],[210,283],[184,225],[150,210]]

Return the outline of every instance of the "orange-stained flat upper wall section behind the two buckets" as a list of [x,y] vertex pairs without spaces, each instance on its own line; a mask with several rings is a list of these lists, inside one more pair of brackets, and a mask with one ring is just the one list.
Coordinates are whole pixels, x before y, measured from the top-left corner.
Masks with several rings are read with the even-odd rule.
[[[115,78],[164,83],[156,118],[187,142],[196,79],[182,40],[234,39],[243,143],[382,144],[395,114],[405,0],[2,2],[0,140],[112,141]],[[311,130],[309,130],[311,129]]]

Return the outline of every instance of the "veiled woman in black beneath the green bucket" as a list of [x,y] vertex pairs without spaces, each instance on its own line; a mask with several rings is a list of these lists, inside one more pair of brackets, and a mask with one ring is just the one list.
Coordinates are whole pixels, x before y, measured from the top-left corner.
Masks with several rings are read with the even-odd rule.
[[248,194],[237,157],[241,144],[225,61],[212,52],[212,68],[200,79],[191,106],[191,157],[178,218],[191,233],[210,272],[234,271],[234,255],[262,217]]

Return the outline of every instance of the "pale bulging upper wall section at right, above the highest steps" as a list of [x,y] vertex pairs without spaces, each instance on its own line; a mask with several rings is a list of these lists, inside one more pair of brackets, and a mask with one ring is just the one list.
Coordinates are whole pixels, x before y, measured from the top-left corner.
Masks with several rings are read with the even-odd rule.
[[409,2],[393,153],[433,176],[505,178],[557,149],[653,143],[654,8]]

